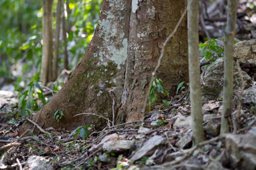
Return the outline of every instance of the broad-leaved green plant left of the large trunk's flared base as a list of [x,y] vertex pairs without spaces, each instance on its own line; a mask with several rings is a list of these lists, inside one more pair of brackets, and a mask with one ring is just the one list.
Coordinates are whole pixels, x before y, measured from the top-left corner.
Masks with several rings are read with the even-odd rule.
[[[18,108],[20,109],[23,117],[30,115],[30,111],[40,110],[37,101],[40,100],[43,104],[46,104],[46,98],[43,94],[43,89],[37,82],[30,82],[24,92],[18,94]],[[18,114],[19,115],[19,114]]]

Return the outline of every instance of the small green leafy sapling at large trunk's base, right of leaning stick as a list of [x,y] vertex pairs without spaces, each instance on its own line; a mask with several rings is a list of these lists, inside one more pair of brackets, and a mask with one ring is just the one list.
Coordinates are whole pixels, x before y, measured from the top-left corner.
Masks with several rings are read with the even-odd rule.
[[[169,97],[169,92],[167,92],[163,88],[163,86],[162,86],[163,84],[164,84],[164,82],[160,78],[157,79],[157,78],[154,77],[152,86],[150,87],[150,93],[149,93],[149,96],[148,96],[149,111],[151,110],[151,105],[154,104],[157,101],[157,96],[156,96],[157,93],[163,93],[163,94],[165,94]],[[169,103],[166,100],[163,100],[163,103],[166,106],[170,107]]]

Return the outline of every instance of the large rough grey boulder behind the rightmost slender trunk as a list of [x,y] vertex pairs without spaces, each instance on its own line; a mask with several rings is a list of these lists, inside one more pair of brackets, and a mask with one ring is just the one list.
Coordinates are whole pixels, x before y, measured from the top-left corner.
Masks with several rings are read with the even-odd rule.
[[[238,90],[241,88],[242,83],[238,73],[236,62],[234,62],[234,81],[233,88]],[[250,87],[251,77],[247,72],[241,70],[246,88]],[[223,93],[223,82],[224,82],[224,58],[216,59],[213,63],[206,68],[203,81],[205,85],[202,85],[203,100],[217,99],[221,93]]]

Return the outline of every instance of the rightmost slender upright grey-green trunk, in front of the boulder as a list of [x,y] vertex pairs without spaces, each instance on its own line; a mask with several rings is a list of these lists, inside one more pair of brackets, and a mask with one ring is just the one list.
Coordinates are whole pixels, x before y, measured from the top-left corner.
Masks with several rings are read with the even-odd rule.
[[234,37],[238,0],[228,0],[227,27],[224,34],[224,97],[220,133],[229,133],[232,112]]

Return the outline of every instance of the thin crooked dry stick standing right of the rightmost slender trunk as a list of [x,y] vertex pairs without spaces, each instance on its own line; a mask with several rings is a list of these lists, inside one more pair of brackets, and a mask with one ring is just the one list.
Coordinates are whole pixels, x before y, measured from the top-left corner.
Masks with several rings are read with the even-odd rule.
[[235,134],[238,132],[237,121],[238,121],[238,119],[241,116],[240,113],[241,113],[241,108],[242,108],[242,97],[243,97],[243,93],[244,93],[244,90],[245,90],[245,82],[244,82],[244,79],[243,79],[243,76],[242,76],[242,73],[241,73],[241,68],[240,68],[240,65],[239,65],[239,60],[237,60],[237,65],[238,65],[238,73],[239,73],[239,76],[240,76],[240,79],[241,79],[241,82],[242,82],[242,89],[241,89],[241,92],[238,95],[238,112],[237,112],[237,116],[236,116],[236,118],[233,121],[233,127],[234,127],[234,132],[233,133],[235,133]]

